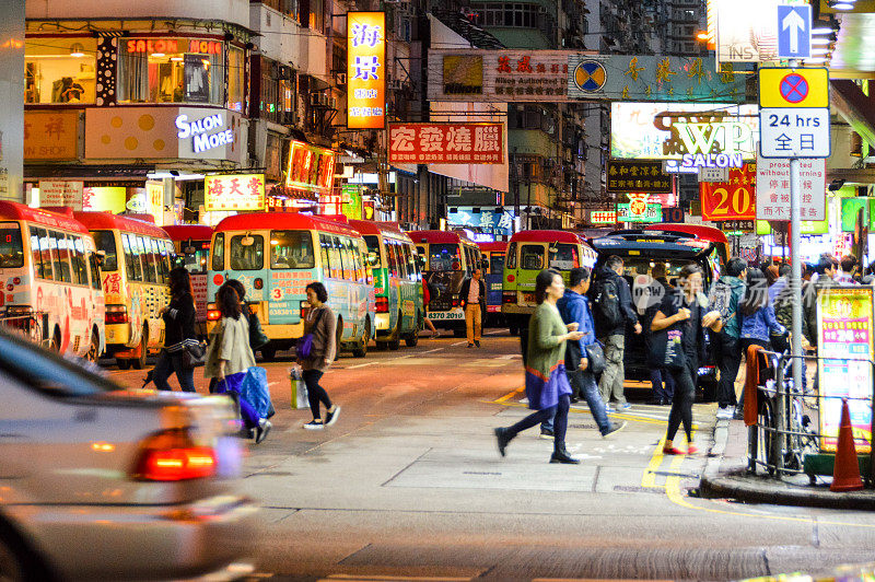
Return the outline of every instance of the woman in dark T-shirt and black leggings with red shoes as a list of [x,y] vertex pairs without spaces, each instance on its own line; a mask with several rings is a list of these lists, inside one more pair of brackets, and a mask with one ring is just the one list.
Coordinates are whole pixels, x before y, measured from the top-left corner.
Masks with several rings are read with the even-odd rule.
[[674,445],[675,435],[684,424],[687,454],[692,455],[698,452],[692,444],[692,403],[696,399],[696,382],[699,380],[699,361],[704,356],[704,329],[720,331],[723,328],[720,312],[708,311],[708,298],[702,293],[701,267],[689,264],[680,269],[678,287],[665,294],[650,328],[653,333],[665,331],[668,334],[668,341],[680,348],[677,361],[668,366],[668,372],[675,379],[675,395],[672,398],[672,411],[668,414],[668,431],[665,434],[663,453],[684,454]]

